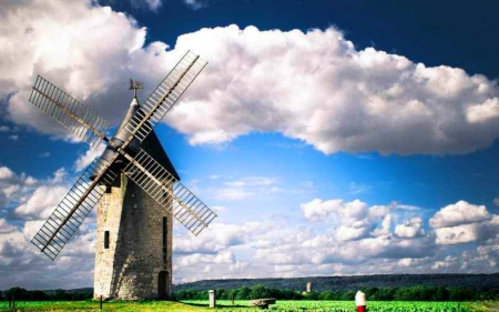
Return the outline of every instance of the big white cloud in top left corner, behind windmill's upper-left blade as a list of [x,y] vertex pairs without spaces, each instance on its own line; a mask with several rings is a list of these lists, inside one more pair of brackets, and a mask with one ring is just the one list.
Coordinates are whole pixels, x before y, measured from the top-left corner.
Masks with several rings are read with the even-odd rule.
[[145,28],[130,16],[94,4],[90,0],[73,1],[71,8],[62,0],[2,4],[0,38],[7,48],[0,51],[0,99],[13,94],[7,101],[11,121],[70,138],[28,102],[30,85],[40,74],[118,122],[131,100],[128,79],[143,80],[150,92],[174,59],[185,53],[166,58],[165,43],[144,47]]

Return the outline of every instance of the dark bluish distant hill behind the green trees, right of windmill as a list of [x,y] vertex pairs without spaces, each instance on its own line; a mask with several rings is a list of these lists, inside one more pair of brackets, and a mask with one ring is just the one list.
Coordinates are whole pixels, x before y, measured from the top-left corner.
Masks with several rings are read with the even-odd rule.
[[236,289],[262,284],[267,288],[305,290],[312,282],[314,291],[346,291],[364,288],[403,286],[465,286],[499,289],[499,273],[496,274],[389,274],[357,276],[310,276],[296,279],[245,279],[245,280],[203,280],[174,285],[173,290]]

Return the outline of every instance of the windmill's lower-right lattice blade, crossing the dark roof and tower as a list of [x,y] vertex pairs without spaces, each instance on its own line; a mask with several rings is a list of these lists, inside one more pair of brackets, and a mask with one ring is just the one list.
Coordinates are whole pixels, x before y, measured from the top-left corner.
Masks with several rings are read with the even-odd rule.
[[135,158],[128,154],[125,158],[130,162],[124,169],[124,174],[157,203],[172,211],[173,217],[194,235],[201,233],[216,218],[207,205],[144,150]]

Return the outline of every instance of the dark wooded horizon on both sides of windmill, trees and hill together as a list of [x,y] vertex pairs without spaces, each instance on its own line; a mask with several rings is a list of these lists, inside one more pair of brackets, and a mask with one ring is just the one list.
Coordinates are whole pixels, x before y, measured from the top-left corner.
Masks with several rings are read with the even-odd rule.
[[[313,291],[305,293],[306,283]],[[206,280],[174,285],[174,300],[207,300],[215,290],[221,300],[353,300],[361,290],[368,300],[475,301],[499,299],[499,274],[398,274],[299,279]],[[93,289],[0,291],[0,300],[86,300]]]

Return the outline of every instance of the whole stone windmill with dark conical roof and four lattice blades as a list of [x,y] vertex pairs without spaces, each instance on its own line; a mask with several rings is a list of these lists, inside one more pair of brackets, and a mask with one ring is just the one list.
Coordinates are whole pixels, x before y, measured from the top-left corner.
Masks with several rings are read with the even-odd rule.
[[195,235],[216,214],[180,182],[154,133],[206,66],[189,51],[141,105],[134,98],[112,139],[111,123],[38,77],[30,102],[96,148],[101,157],[83,171],[32,243],[52,261],[98,205],[94,296],[165,298],[171,292],[172,217]]

